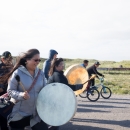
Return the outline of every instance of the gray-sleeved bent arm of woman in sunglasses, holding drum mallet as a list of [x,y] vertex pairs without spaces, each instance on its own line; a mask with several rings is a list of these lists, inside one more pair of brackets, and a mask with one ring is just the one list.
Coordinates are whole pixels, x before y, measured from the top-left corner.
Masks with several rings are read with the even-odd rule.
[[9,94],[9,96],[11,96],[11,98],[14,98],[15,100],[19,100],[19,101],[25,100],[23,98],[24,92],[18,91],[19,84],[17,80],[15,79],[16,75],[17,75],[17,72],[13,73],[12,77],[10,78],[9,83],[8,83],[7,93]]

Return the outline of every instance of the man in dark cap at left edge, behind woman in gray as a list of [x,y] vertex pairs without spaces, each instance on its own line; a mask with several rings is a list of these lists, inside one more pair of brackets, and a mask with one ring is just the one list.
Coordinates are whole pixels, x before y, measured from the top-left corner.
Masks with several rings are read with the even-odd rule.
[[[13,67],[12,65],[12,56],[9,51],[5,51],[1,55],[0,63],[0,76],[7,74]],[[6,93],[7,84],[0,84],[0,96]],[[1,130],[8,130],[7,120],[0,115],[0,128]]]

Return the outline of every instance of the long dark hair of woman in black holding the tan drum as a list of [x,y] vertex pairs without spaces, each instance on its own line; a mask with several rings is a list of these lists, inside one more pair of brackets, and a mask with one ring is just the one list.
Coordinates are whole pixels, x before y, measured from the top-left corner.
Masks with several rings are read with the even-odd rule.
[[52,60],[49,70],[49,76],[53,74],[53,72],[55,71],[55,67],[57,67],[62,61],[64,61],[62,58],[56,58]]

